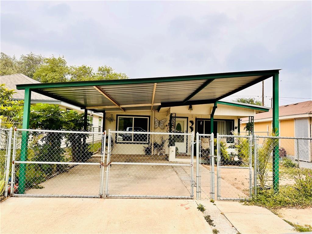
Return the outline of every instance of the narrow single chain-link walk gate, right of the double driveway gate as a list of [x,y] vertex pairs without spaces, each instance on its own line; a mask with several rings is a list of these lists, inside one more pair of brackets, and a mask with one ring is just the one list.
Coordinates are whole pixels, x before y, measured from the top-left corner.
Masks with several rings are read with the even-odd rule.
[[253,139],[217,134],[217,200],[247,200],[252,195]]

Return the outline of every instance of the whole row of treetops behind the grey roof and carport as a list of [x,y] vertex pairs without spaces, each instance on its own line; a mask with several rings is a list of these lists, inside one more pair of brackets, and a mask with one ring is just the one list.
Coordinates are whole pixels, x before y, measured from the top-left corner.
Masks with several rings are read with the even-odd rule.
[[87,65],[68,66],[64,56],[45,58],[30,52],[16,59],[1,53],[0,62],[1,76],[22,73],[43,83],[128,79],[126,74],[115,72],[107,65],[99,66],[96,71]]

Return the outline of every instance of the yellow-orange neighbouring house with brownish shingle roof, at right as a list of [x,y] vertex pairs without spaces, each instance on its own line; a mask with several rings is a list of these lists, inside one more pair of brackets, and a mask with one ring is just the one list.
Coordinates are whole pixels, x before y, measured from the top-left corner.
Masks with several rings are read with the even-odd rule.
[[[311,138],[312,129],[312,101],[305,101],[284,105],[279,107],[280,126],[279,132],[282,137],[302,137]],[[248,118],[241,119],[241,134],[244,130]],[[254,132],[255,135],[268,135],[272,129],[272,109],[268,112],[256,114],[254,117]],[[248,132],[247,132],[248,134]],[[261,144],[261,142],[260,142]],[[304,154],[300,160],[311,162],[311,141],[300,140],[297,143],[295,140],[280,139],[280,148],[284,148],[289,155],[297,155],[297,148],[304,149]]]

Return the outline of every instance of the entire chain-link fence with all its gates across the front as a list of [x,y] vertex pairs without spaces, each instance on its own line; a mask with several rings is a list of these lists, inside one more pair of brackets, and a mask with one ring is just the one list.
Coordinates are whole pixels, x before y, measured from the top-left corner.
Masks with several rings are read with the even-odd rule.
[[312,138],[110,131],[105,158],[104,137],[1,129],[0,192],[242,200],[312,173]]

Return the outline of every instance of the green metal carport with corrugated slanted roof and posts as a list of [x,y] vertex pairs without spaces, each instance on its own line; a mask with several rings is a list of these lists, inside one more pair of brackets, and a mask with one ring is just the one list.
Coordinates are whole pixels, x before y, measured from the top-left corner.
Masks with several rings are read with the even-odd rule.
[[[211,113],[213,122],[217,102],[222,98],[273,77],[273,129],[279,127],[279,69],[169,76],[126,80],[92,80],[62,83],[39,83],[17,85],[25,90],[23,129],[29,128],[31,92],[95,112],[105,110],[160,110],[162,107],[214,103]],[[86,119],[86,118],[85,118]],[[27,141],[27,132],[22,132]],[[27,142],[22,142],[21,161],[27,160]],[[279,189],[279,151],[273,151],[273,188]],[[19,193],[25,192],[26,165],[20,166]]]

